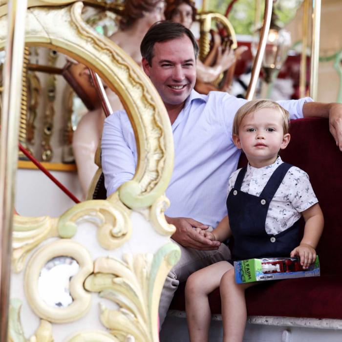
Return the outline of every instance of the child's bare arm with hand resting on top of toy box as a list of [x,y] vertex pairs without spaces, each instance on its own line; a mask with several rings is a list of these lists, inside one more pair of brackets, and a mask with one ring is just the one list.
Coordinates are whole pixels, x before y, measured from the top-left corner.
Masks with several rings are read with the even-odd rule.
[[290,256],[300,256],[300,264],[307,269],[316,259],[315,249],[323,231],[324,218],[318,203],[304,210],[302,215],[305,220],[304,236]]

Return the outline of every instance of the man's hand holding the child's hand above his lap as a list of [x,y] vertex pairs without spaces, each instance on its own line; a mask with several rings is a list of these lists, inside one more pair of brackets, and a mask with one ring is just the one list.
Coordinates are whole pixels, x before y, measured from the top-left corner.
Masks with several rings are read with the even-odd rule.
[[216,250],[220,246],[219,241],[211,241],[200,235],[194,228],[206,230],[209,226],[204,225],[188,217],[168,217],[165,216],[168,223],[176,227],[176,232],[172,239],[184,247],[191,247],[202,251]]

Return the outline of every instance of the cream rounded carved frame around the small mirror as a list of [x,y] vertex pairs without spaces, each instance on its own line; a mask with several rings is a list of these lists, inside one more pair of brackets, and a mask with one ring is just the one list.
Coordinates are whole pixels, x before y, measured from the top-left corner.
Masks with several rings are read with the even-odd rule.
[[[73,301],[69,306],[61,308],[46,304],[38,292],[38,279],[43,266],[57,256],[70,256],[80,267],[70,280],[69,289]],[[85,291],[83,283],[92,272],[91,256],[81,244],[60,239],[44,245],[34,253],[25,270],[24,289],[31,309],[38,317],[56,323],[76,321],[83,317],[90,309],[91,300],[91,295]]]

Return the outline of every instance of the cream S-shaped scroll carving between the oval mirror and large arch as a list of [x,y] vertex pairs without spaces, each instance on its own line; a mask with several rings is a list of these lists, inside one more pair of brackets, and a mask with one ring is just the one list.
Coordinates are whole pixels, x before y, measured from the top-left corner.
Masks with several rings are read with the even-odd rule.
[[103,248],[111,250],[121,246],[131,234],[130,210],[120,202],[117,194],[114,198],[115,202],[89,200],[72,207],[58,221],[59,235],[70,238],[77,231],[76,222],[89,221],[97,225],[98,241]]

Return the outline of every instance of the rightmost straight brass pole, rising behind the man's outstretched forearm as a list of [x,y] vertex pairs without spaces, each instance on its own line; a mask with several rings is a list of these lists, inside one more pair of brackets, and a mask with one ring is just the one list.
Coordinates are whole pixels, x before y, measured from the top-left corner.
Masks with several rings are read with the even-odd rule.
[[312,0],[312,42],[310,67],[310,96],[317,101],[318,64],[320,58],[321,0]]

